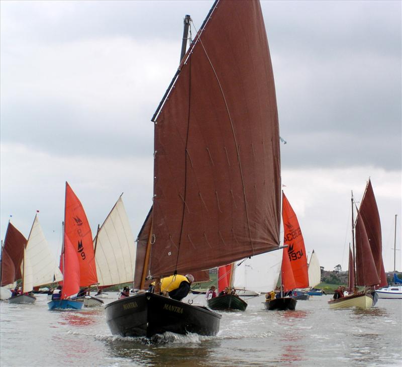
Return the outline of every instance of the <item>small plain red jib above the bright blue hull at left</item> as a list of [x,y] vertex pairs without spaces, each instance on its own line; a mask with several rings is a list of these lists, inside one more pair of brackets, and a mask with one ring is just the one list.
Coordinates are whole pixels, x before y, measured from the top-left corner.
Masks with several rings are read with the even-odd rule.
[[76,250],[66,234],[64,234],[64,269],[62,298],[70,297],[79,291],[79,259]]

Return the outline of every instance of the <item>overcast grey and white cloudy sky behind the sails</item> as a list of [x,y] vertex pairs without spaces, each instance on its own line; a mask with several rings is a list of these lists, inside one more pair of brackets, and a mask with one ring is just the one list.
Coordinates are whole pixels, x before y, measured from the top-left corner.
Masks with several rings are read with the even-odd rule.
[[[60,253],[65,181],[92,233],[124,192],[134,237],[152,204],[151,117],[183,18],[212,1],[0,2],[0,237],[36,211]],[[383,259],[401,271],[401,2],[262,1],[283,190],[320,265],[347,269],[350,196],[370,177]],[[219,36],[219,35],[218,35]]]

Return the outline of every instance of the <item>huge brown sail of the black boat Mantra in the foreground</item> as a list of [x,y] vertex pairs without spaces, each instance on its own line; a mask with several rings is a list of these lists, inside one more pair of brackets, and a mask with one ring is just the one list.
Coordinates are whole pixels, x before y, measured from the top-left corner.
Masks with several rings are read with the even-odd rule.
[[261,7],[217,2],[155,122],[151,273],[279,245],[276,96]]

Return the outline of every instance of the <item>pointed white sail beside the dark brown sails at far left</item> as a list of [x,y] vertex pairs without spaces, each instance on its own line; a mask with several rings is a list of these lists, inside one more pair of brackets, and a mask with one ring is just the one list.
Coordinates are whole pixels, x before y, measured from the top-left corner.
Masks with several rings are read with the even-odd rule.
[[31,292],[34,287],[53,283],[54,281],[58,282],[63,279],[56,258],[43,234],[37,215],[32,224],[27,246],[24,250],[21,271],[24,274],[24,293]]

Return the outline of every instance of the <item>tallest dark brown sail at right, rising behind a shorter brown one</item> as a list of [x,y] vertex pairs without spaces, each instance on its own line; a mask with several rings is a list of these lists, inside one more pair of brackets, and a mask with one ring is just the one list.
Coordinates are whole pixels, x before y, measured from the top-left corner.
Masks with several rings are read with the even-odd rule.
[[359,213],[363,219],[377,274],[381,280],[379,287],[385,287],[387,280],[382,260],[381,222],[370,179],[367,182]]

